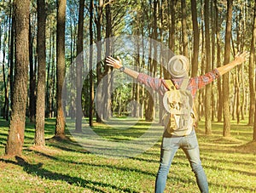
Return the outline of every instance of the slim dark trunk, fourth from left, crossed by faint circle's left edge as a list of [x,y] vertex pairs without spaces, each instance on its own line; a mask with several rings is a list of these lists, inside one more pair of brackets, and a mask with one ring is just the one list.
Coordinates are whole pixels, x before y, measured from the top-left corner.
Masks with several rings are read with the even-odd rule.
[[77,43],[77,58],[76,58],[76,88],[77,88],[77,99],[76,99],[76,132],[82,132],[82,72],[84,65],[83,55],[83,42],[84,42],[84,0],[79,0],[79,31],[78,31],[78,43]]

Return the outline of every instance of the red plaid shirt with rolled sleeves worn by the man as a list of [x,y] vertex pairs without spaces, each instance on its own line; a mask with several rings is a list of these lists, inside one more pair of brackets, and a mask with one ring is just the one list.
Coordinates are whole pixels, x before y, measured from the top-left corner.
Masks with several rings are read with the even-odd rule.
[[[214,69],[213,71],[208,72],[205,75],[200,77],[191,77],[189,79],[187,89],[191,92],[193,98],[195,98],[196,91],[203,88],[208,83],[211,83],[215,79],[220,77],[218,70]],[[155,91],[158,91],[161,95],[164,95],[168,90],[166,81],[161,78],[150,77],[146,74],[140,73],[137,77],[138,82],[145,84],[149,88],[153,88]],[[175,87],[180,88],[183,78],[171,79]]]

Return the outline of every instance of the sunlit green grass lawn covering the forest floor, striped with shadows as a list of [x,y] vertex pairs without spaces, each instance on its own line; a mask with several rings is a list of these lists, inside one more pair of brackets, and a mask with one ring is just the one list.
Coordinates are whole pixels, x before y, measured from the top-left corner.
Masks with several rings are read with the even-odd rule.
[[[104,139],[128,143],[145,133],[151,124],[140,121],[125,128],[125,122],[136,121],[118,121],[115,127],[97,124],[93,129]],[[232,123],[230,138],[222,137],[222,123],[212,123],[210,136],[204,134],[203,122],[197,131],[210,192],[256,192],[256,145],[250,143],[253,128],[247,127],[246,122],[238,126]],[[3,156],[8,127],[9,123],[0,119],[0,192],[154,192],[160,139],[136,156],[101,156],[74,140],[51,139],[55,120],[48,119],[45,148],[33,146],[34,126],[26,123],[23,156],[8,158]],[[73,135],[67,135],[73,139]],[[166,192],[199,192],[182,150],[178,150],[172,162]]]

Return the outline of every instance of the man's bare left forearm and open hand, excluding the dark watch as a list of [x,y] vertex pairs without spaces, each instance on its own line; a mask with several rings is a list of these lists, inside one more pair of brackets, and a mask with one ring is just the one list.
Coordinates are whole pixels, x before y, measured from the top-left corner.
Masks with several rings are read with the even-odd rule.
[[[122,65],[122,61],[119,59],[119,57],[117,57],[118,60],[115,60],[114,58],[112,58],[111,56],[108,56],[107,58],[107,65],[110,65],[110,66],[113,66],[113,68],[115,69],[120,69],[121,67],[123,67]],[[125,72],[125,74],[129,75],[130,77],[133,77],[133,78],[137,78],[138,75],[139,75],[139,72],[137,71],[133,71],[129,68],[125,68],[123,67],[123,71]]]

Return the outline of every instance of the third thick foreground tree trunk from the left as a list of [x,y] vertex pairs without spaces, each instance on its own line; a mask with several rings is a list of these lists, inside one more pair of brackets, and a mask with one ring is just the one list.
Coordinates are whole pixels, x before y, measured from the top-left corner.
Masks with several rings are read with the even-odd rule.
[[65,117],[61,101],[61,92],[65,78],[65,20],[66,20],[66,0],[58,0],[57,3],[57,115],[55,125],[55,136],[65,137]]

